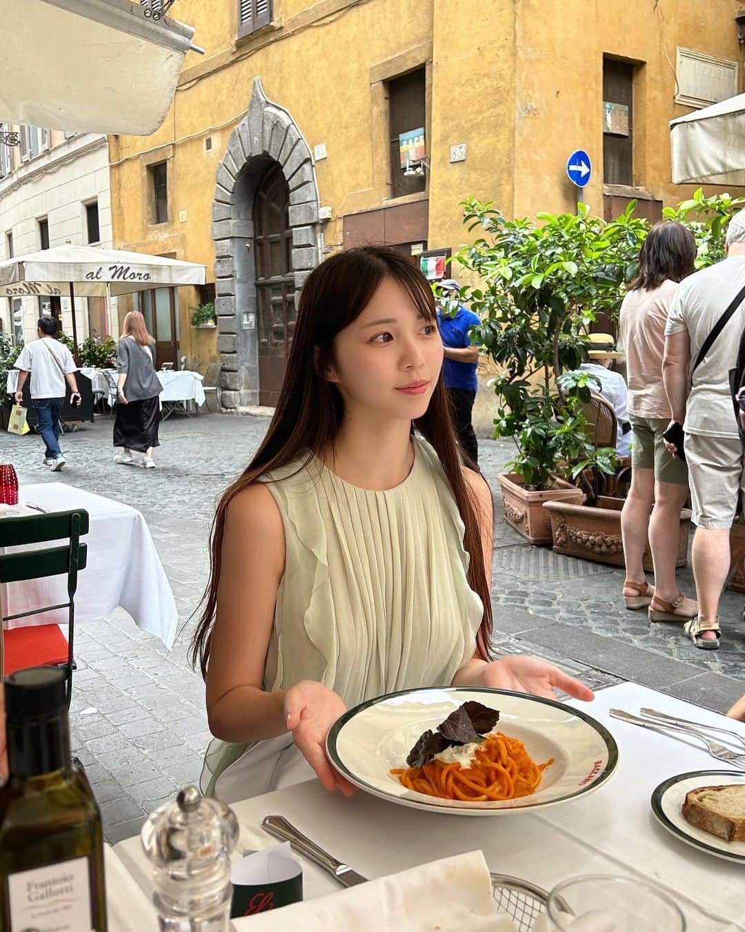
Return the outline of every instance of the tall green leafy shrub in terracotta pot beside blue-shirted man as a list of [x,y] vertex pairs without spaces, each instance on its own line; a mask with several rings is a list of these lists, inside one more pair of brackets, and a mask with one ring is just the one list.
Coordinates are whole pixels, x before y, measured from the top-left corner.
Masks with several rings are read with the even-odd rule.
[[457,254],[481,279],[461,297],[481,317],[481,343],[500,370],[494,435],[515,439],[508,469],[528,489],[574,479],[592,498],[585,473],[615,470],[615,451],[595,450],[582,414],[600,386],[576,370],[588,358],[590,324],[617,313],[636,274],[649,225],[635,206],[611,223],[580,205],[576,214],[539,213],[536,224],[508,220],[491,202],[463,202],[468,230],[484,235]]

